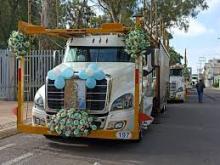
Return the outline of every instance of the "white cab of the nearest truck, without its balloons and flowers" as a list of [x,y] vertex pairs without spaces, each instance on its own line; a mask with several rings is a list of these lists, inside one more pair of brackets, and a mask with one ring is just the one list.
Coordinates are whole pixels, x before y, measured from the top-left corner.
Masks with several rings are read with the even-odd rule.
[[[59,73],[64,68],[71,68],[74,76],[65,80],[62,89],[57,89],[54,80],[47,77],[45,85],[35,95],[33,125],[47,125],[51,116],[60,109],[74,107],[95,116],[96,125],[101,130],[132,131],[135,62],[125,52],[124,39],[118,34],[70,38],[63,62],[53,70]],[[79,76],[90,65],[96,65],[105,74],[104,79],[96,80],[94,88],[88,88],[86,80]],[[141,74],[140,82],[143,83],[141,88],[146,86]],[[140,92],[141,111],[150,115],[152,100],[145,93],[149,92]]]

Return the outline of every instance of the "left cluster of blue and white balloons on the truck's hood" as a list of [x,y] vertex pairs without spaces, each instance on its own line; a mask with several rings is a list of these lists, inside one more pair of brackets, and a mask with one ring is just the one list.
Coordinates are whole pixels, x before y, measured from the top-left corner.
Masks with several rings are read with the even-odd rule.
[[47,73],[48,79],[54,80],[54,86],[57,89],[63,89],[65,86],[65,79],[70,79],[73,75],[73,69],[66,65],[56,67]]

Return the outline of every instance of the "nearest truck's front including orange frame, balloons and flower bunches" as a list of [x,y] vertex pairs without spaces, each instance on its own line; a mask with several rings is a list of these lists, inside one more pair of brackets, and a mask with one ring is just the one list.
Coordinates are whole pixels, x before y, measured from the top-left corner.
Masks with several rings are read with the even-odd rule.
[[143,30],[135,28],[128,33],[121,24],[95,29],[45,29],[25,22],[19,23],[19,29],[28,35],[65,37],[68,41],[63,62],[48,71],[45,84],[35,95],[32,124],[24,120],[25,58],[18,54],[18,131],[141,138],[142,128],[153,120],[149,106],[152,99],[147,99],[146,92],[150,86],[147,78],[151,71],[146,69],[150,43]]

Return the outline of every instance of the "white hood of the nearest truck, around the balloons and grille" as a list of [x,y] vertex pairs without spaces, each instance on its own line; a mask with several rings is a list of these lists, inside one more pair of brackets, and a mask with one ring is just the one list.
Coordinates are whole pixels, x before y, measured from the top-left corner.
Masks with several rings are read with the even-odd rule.
[[[61,69],[64,67],[73,68],[74,72],[84,70],[91,62],[74,62],[63,63],[56,68]],[[126,62],[97,62],[97,66],[107,75],[110,75],[112,79],[111,85],[111,101],[122,96],[126,93],[134,93],[134,63]],[[110,102],[111,102],[110,101]]]

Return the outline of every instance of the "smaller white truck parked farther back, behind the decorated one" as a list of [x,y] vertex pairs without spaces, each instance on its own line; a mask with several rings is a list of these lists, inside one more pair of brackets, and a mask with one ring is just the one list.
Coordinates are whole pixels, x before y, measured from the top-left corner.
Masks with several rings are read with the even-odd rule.
[[184,77],[184,65],[170,66],[169,101],[185,101],[186,83]]

